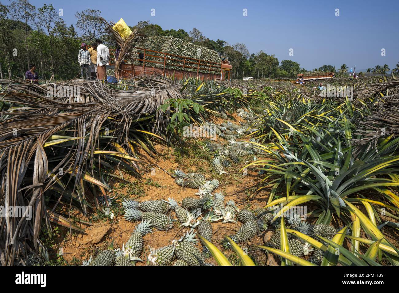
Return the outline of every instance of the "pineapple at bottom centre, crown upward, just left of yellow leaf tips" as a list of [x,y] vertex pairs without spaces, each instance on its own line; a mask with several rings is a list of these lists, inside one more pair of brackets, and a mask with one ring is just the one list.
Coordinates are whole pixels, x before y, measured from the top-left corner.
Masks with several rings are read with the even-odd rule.
[[204,265],[205,258],[194,244],[195,234],[187,232],[180,240],[174,240],[176,257],[184,260],[188,265]]

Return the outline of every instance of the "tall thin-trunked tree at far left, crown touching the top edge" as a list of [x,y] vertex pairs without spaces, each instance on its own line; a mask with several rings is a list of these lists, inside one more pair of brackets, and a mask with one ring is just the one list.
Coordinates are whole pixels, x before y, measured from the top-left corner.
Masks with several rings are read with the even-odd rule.
[[8,7],[10,15],[14,20],[24,23],[24,36],[25,36],[25,50],[26,61],[29,69],[29,53],[28,53],[28,24],[35,21],[36,7],[28,2],[28,0],[12,1]]

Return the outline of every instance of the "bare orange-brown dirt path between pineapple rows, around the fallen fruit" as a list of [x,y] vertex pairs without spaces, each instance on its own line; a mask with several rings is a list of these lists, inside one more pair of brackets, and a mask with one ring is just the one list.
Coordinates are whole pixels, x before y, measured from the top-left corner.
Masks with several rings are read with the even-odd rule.
[[[235,116],[233,123],[238,123],[241,118]],[[241,120],[243,121],[243,120]],[[221,123],[223,120],[215,120],[215,123]],[[243,140],[248,140],[245,138]],[[226,143],[221,138],[217,141]],[[247,175],[239,173],[240,169],[244,167],[249,161],[253,159],[253,155],[242,157],[240,163],[233,164],[231,167],[225,168],[228,174],[219,175],[212,171],[210,163],[210,155],[203,149],[199,141],[191,141],[193,145],[187,148],[172,148],[162,145],[156,145],[156,150],[159,155],[153,159],[146,153],[142,153],[144,160],[152,161],[157,166],[148,166],[149,172],[142,176],[139,181],[135,177],[124,174],[124,179],[130,183],[123,181],[115,181],[113,184],[114,193],[116,196],[126,196],[130,199],[138,201],[148,201],[156,199],[165,199],[173,197],[176,201],[180,202],[184,197],[198,197],[194,193],[198,192],[196,189],[183,188],[175,183],[175,179],[168,173],[172,174],[174,169],[182,169],[185,172],[200,172],[205,175],[207,180],[218,179],[220,182],[217,191],[223,191],[225,194],[225,203],[229,200],[235,201],[239,208],[249,206],[247,197],[250,194],[250,189],[253,187],[253,179],[257,176],[257,171],[249,169]],[[257,158],[262,158],[258,156]],[[166,173],[165,171],[168,173]],[[115,174],[119,175],[116,171]],[[251,208],[255,209],[266,205],[268,194],[261,191],[255,199],[251,200]],[[75,216],[82,218],[81,214],[76,212]],[[57,249],[62,248],[63,259],[67,264],[79,264],[81,260],[89,258],[98,249],[105,249],[112,241],[114,248],[122,248],[122,243],[126,243],[130,234],[134,230],[137,222],[128,222],[124,219],[122,214],[116,215],[113,220],[109,218],[99,219],[94,222],[92,226],[80,224],[85,230],[85,233],[77,233],[67,236],[59,244]],[[221,246],[221,240],[225,235],[233,235],[238,230],[241,223],[222,223],[214,222],[213,227],[213,244],[215,244],[221,251],[223,251],[232,263],[238,263],[237,257],[224,250]],[[178,222],[175,222],[174,227],[169,231],[154,231],[152,234],[144,236],[144,243],[146,250],[141,258],[146,259],[149,250],[148,247],[160,248],[171,244],[173,239],[178,239],[189,228],[179,227]],[[241,243],[242,247],[251,244],[263,244],[263,237],[255,237],[251,242]],[[214,263],[213,258],[209,258],[208,262]],[[265,255],[261,254],[259,262],[265,262]],[[143,265],[137,263],[136,265]]]

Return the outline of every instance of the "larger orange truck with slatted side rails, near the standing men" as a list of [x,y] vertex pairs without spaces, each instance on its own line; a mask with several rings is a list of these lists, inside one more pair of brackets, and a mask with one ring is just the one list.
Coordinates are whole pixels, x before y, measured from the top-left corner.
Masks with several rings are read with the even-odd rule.
[[[141,47],[135,47],[134,49],[135,53],[138,55],[136,61],[138,61],[140,65],[135,65],[134,62],[128,64],[127,61],[124,61],[121,66],[121,77],[124,79],[130,79],[135,75],[158,73],[161,75],[173,76],[176,79],[196,77],[201,80],[231,80],[231,70],[233,69],[233,67],[230,65],[230,62],[224,57],[221,57],[220,63],[216,63],[206,61],[200,58],[195,59],[187,56],[174,55]],[[151,58],[148,59],[146,57]],[[168,69],[168,61],[178,61],[183,64],[174,65],[179,67],[180,69]],[[114,60],[112,60],[112,58],[110,58],[109,65],[111,68],[113,67],[113,65],[115,65],[115,62]],[[201,68],[209,68],[209,72],[200,72],[200,65]],[[190,69],[190,71],[188,71],[187,69]],[[203,69],[201,69],[201,71],[203,71]],[[216,74],[215,72],[220,73]]]

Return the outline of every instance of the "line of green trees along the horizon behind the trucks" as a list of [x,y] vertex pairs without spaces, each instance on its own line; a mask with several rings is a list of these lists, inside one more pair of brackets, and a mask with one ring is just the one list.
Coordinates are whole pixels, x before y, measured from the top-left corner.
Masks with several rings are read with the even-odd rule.
[[[101,38],[109,47],[115,47],[116,44],[100,20],[100,10],[76,12],[76,24],[70,26],[65,24],[62,16],[62,9],[58,10],[52,4],[43,4],[37,8],[29,0],[13,0],[8,6],[0,2],[0,71],[10,76],[23,77],[32,63],[38,68],[42,79],[49,79],[51,75],[57,80],[72,79],[79,75],[77,51],[82,42],[90,45],[96,38]],[[140,21],[130,28],[141,29],[148,37],[173,36],[215,50],[229,59],[233,66],[233,79],[249,76],[294,78],[298,73],[307,71],[297,62],[279,62],[274,54],[262,50],[250,54],[244,43],[229,44],[221,39],[211,40],[196,28],[190,32],[184,29],[164,30],[148,21]],[[313,71],[333,71],[345,75],[347,69],[345,64],[338,71],[332,65],[323,65]],[[393,72],[398,70],[399,63]],[[387,71],[388,65],[377,65],[375,69],[370,69],[373,73]]]

